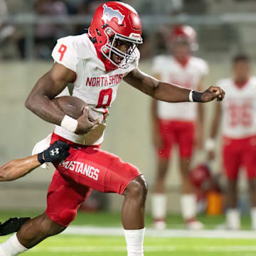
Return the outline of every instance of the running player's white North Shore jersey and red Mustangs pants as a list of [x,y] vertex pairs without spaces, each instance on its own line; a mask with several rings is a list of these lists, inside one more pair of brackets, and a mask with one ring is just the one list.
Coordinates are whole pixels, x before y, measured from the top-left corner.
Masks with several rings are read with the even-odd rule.
[[[51,137],[50,143],[63,140],[70,144],[70,156],[63,163],[55,164],[57,170],[48,189],[46,213],[60,225],[69,225],[75,218],[91,188],[122,194],[129,182],[141,174],[132,164],[124,163],[118,156],[99,148],[108,110],[117,96],[119,83],[127,73],[137,68],[137,51],[138,57],[129,68],[117,68],[107,73],[87,34],[60,38],[53,49],[55,62],[77,75],[73,96],[87,102],[91,113],[101,120],[97,129],[85,135],[56,126]],[[68,88],[58,96],[63,95],[69,95]]]

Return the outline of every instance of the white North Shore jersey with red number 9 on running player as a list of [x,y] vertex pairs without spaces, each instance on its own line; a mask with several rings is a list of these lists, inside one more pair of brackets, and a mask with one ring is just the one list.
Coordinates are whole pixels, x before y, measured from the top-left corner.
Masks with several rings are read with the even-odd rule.
[[[102,143],[106,118],[112,102],[117,97],[119,83],[139,64],[139,50],[136,50],[138,57],[129,68],[117,68],[107,73],[104,63],[98,58],[95,46],[86,33],[58,40],[53,48],[53,59],[76,73],[73,96],[86,102],[90,106],[93,116],[100,117],[101,121],[96,129],[85,135],[68,132],[58,125],[55,126],[55,134],[78,144],[97,145]],[[65,95],[70,95],[68,87],[58,97]]]

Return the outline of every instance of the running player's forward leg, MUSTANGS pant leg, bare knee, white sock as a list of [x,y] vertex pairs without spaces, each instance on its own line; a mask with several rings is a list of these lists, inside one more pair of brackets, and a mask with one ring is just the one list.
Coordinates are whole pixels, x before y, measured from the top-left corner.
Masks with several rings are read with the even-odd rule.
[[122,223],[129,256],[143,256],[144,210],[147,186],[142,173],[118,156],[90,147],[70,149],[75,154],[58,166],[60,174],[77,185],[124,195]]

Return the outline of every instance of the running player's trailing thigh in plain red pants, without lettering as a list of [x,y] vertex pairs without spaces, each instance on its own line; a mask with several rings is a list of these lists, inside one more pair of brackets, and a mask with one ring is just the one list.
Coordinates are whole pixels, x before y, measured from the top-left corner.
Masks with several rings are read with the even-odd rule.
[[90,192],[91,188],[67,181],[55,171],[48,188],[46,214],[55,223],[67,226],[75,219],[78,208]]

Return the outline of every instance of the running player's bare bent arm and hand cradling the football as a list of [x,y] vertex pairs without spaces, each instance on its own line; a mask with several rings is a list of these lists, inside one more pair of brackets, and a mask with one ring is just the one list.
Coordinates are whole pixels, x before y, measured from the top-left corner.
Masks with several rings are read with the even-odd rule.
[[[74,80],[75,72],[73,70],[65,68],[64,65],[59,63],[53,64],[48,73],[36,82],[33,90],[28,95],[25,103],[26,107],[47,122],[61,125],[65,113],[59,110],[51,100],[62,92],[68,83]],[[85,134],[98,122],[99,120],[90,122],[88,119],[88,109],[85,109],[84,114],[78,118],[74,132]]]

